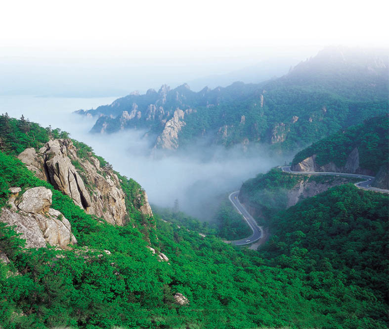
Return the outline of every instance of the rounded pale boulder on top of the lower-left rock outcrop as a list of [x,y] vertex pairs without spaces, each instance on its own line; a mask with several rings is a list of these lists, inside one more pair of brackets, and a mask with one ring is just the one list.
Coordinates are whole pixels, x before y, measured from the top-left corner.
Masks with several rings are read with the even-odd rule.
[[23,193],[18,208],[33,214],[46,213],[51,205],[52,194],[48,188],[30,188]]

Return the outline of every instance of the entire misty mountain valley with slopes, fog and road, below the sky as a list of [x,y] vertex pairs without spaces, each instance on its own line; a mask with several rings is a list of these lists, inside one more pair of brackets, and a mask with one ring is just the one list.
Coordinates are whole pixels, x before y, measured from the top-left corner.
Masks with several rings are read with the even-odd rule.
[[386,59],[2,113],[0,328],[388,328]]

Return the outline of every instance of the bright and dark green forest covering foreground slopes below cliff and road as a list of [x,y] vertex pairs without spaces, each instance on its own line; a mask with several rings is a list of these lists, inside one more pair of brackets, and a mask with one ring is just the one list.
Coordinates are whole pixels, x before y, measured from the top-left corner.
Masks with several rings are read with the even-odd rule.
[[[22,120],[6,122],[16,127]],[[0,135],[0,205],[6,207],[11,186],[49,188],[52,207],[69,219],[78,244],[26,249],[11,227],[0,225],[0,249],[10,259],[0,262],[2,328],[388,327],[388,195],[349,184],[271,212],[272,236],[259,251],[226,244],[214,229],[199,235],[207,228],[193,218],[190,229],[179,228],[173,214],[158,210],[147,224],[133,211],[127,225],[113,226],[14,157],[50,134],[30,128]],[[269,176],[266,186],[293,184],[277,171]],[[176,292],[189,304],[174,303]]]

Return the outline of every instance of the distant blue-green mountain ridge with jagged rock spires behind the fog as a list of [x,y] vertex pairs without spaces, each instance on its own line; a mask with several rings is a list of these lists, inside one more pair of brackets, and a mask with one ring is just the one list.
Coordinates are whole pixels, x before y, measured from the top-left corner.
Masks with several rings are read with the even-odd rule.
[[97,118],[94,133],[143,129],[154,147],[184,148],[195,139],[225,146],[261,142],[303,147],[388,112],[388,54],[329,47],[285,76],[195,93],[184,84],[130,94],[79,114]]

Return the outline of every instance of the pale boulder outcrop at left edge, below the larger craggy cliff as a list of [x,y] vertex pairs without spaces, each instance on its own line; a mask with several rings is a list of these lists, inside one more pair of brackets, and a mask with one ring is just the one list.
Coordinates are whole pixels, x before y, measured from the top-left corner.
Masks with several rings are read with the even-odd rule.
[[76,244],[69,221],[50,208],[52,192],[48,188],[27,189],[20,201],[11,195],[10,209],[1,210],[0,221],[15,226],[15,231],[26,240],[27,248],[43,248],[46,243],[62,249]]

